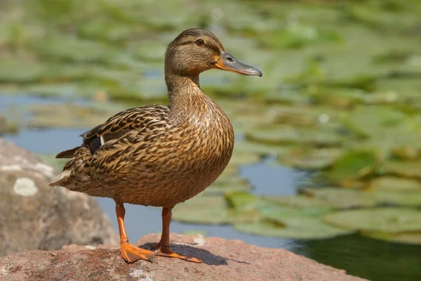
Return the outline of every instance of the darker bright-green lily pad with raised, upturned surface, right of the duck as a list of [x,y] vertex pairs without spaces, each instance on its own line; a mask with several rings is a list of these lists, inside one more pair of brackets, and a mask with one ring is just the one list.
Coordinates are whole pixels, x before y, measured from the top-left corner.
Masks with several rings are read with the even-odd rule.
[[334,183],[352,181],[368,174],[373,174],[377,166],[376,153],[373,150],[349,150],[333,164],[326,175]]

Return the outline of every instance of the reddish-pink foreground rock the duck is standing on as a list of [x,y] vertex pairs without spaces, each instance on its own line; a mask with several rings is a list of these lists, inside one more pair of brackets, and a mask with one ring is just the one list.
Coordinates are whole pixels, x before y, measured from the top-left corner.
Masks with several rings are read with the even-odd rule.
[[[135,244],[149,248],[159,235],[146,235]],[[284,249],[268,249],[201,235],[171,235],[173,250],[203,263],[156,256],[154,263],[128,264],[116,247],[87,249],[76,245],[60,251],[23,251],[0,259],[0,278],[41,280],[340,280],[357,281],[345,270],[324,266]],[[147,244],[145,244],[147,242]]]

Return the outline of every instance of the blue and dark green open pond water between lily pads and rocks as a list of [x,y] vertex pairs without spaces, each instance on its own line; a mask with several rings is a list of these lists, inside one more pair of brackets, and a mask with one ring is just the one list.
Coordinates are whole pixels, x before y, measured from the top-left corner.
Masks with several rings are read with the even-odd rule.
[[[45,101],[51,103],[52,100],[25,96],[0,97],[0,113],[11,108],[22,108],[25,103]],[[22,129],[18,134],[6,135],[4,138],[34,153],[55,154],[79,145],[81,138],[78,136],[87,129],[89,128]],[[265,159],[258,164],[241,167],[240,172],[255,187],[256,194],[295,194],[300,182],[305,181],[307,173],[274,163],[274,159]],[[117,230],[114,201],[98,198],[98,203]],[[126,204],[126,226],[128,236],[133,242],[147,233],[160,233],[161,209]],[[361,235],[345,235],[328,240],[291,240],[238,233],[231,226],[201,226],[178,221],[171,223],[173,233],[183,233],[187,230],[205,232],[207,236],[239,239],[262,247],[288,249],[369,280],[421,280],[421,247],[416,245],[377,241]]]

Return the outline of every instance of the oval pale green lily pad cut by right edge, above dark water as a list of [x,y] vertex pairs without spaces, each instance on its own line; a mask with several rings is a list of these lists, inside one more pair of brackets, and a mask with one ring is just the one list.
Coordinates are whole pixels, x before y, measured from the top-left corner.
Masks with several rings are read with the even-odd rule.
[[323,221],[349,230],[401,233],[421,231],[421,210],[377,208],[339,211],[323,216]]

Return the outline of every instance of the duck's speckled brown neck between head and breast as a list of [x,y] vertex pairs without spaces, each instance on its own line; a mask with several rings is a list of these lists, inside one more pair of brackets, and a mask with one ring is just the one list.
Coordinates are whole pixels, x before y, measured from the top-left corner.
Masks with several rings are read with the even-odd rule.
[[192,114],[207,100],[205,93],[200,89],[199,74],[185,76],[166,72],[165,81],[172,117],[180,118]]

